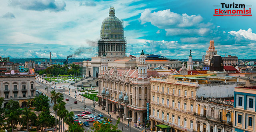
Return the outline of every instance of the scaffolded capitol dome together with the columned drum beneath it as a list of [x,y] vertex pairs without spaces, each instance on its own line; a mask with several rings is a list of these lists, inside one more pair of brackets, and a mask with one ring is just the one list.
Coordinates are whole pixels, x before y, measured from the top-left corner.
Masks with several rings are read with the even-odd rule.
[[100,40],[98,41],[98,56],[107,57],[126,56],[126,40],[122,21],[115,16],[114,7],[110,7],[109,16],[101,25]]

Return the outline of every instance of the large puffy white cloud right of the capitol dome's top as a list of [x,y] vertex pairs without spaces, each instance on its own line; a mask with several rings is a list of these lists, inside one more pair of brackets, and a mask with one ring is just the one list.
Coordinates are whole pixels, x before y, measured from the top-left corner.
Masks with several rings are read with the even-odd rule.
[[158,28],[170,28],[170,27],[190,27],[194,26],[202,21],[200,15],[177,14],[168,10],[160,10],[158,12],[152,12],[150,9],[145,9],[140,16],[141,24],[151,22],[152,25]]

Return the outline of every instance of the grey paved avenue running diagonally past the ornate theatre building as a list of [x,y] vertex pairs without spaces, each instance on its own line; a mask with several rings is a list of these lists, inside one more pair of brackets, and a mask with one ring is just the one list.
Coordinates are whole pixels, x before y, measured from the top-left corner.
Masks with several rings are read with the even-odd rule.
[[[36,81],[37,83],[38,83],[38,81]],[[46,84],[41,84],[41,83],[38,83],[41,87],[40,88],[38,88],[38,90],[40,90],[41,92],[42,92],[42,89],[44,90],[44,88],[46,87],[46,86],[48,86],[48,85],[46,85]],[[51,89],[51,88],[48,88],[48,92],[50,93],[52,90],[56,90],[56,89]],[[56,90],[56,92],[61,92],[61,93],[63,93],[63,90]],[[42,93],[44,93],[44,92],[42,92]],[[44,93],[45,94],[45,93]],[[46,93],[47,94],[47,93]],[[50,95],[50,94],[48,94],[48,95]],[[69,110],[70,111],[70,107],[72,107],[72,109],[74,110],[74,109],[84,109],[84,103],[82,103],[82,102],[80,102],[80,101],[78,101],[78,100],[76,100],[76,99],[74,99],[74,98],[72,98],[72,97],[70,97],[70,96],[68,96],[68,95],[66,95],[66,94],[63,94],[64,95],[64,99],[66,99],[66,98],[68,98],[69,99],[69,101],[65,101],[66,102],[66,109],[67,110]],[[77,101],[77,104],[74,104],[74,101]],[[93,104],[91,103],[91,104],[85,104],[86,105],[86,111],[89,111],[89,112],[92,112],[93,111]],[[50,103],[50,106],[52,107],[53,106],[53,104],[51,104]],[[92,112],[93,113],[93,112]],[[100,111],[98,111],[98,110],[96,110],[95,109],[95,114],[96,115],[98,115],[98,114],[100,114],[101,112]],[[81,114],[81,112],[74,112],[74,114],[75,115],[77,115],[77,114]],[[108,115],[106,115],[106,114],[103,114],[103,116],[104,117],[107,117],[107,118],[109,118],[109,116]],[[84,122],[86,119],[82,119],[82,117],[78,117],[79,118],[79,120],[80,121],[82,121],[82,122]],[[89,122],[89,124],[90,124],[90,126],[88,126],[88,127],[86,127],[86,126],[84,126],[84,130],[86,130],[86,131],[88,131],[88,130],[90,130],[90,127],[93,127],[93,123],[92,122]],[[112,124],[116,124],[116,120],[112,120]],[[122,122],[120,122],[120,124],[118,124],[118,129],[119,130],[122,130],[122,127],[123,127],[123,132],[142,132],[142,130],[138,130],[138,129],[136,129],[136,128],[134,128],[134,127],[129,127],[129,128],[125,128],[125,124],[124,123],[122,123]]]

